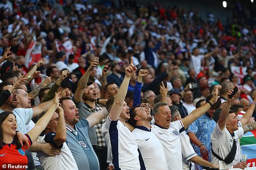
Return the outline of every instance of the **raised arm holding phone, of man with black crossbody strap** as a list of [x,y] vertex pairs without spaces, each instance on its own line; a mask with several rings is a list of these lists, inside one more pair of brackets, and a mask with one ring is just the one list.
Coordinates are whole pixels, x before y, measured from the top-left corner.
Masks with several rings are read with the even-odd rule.
[[[229,92],[228,92],[228,95],[231,95],[233,92],[233,89],[231,89]],[[227,97],[227,102],[226,104],[224,105],[224,107],[222,108],[220,114],[219,114],[219,120],[218,120],[218,125],[219,125],[219,128],[220,130],[222,131],[224,129],[224,127],[226,126],[226,123],[227,123],[227,115],[228,115],[228,112],[229,112],[229,109],[231,107],[231,102],[235,99],[236,95],[233,96],[232,99],[229,99],[229,97]]]

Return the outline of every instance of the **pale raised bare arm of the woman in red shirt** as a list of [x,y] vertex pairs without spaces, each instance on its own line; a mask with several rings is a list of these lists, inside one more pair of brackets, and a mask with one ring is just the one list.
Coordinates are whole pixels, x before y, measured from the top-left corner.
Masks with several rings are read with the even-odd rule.
[[45,130],[45,127],[50,122],[50,119],[53,117],[54,112],[56,108],[58,107],[59,98],[57,93],[55,93],[54,102],[52,103],[51,107],[48,109],[48,111],[43,115],[36,123],[35,127],[28,132],[29,137],[31,138],[31,141],[34,142],[37,140],[37,137],[43,130]]

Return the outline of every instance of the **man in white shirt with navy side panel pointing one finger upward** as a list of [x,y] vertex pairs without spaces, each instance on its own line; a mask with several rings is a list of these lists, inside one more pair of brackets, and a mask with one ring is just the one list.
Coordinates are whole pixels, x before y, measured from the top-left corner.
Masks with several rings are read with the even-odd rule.
[[124,126],[125,121],[130,119],[129,107],[124,98],[136,69],[131,58],[115,99],[109,99],[106,104],[110,113],[102,126],[102,133],[107,142],[107,163],[112,164],[115,170],[140,170],[138,145],[134,135]]

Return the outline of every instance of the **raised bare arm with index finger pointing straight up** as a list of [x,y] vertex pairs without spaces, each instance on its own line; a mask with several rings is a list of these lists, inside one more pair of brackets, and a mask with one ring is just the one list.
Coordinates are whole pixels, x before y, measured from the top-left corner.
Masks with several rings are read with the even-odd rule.
[[131,64],[125,68],[125,77],[124,81],[121,84],[117,94],[116,98],[114,100],[113,106],[111,108],[111,111],[109,113],[109,118],[112,121],[116,121],[119,119],[119,116],[121,114],[121,109],[124,104],[124,98],[128,90],[129,81],[132,77],[132,75],[136,72],[137,68],[133,65],[132,57],[131,57]]

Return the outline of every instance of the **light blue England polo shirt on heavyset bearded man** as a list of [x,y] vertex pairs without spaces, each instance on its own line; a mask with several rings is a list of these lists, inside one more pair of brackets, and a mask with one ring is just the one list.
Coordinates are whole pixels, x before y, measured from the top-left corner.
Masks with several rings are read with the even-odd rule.
[[73,154],[79,170],[99,170],[99,160],[89,139],[90,125],[86,119],[81,119],[75,129],[66,125],[66,144]]

